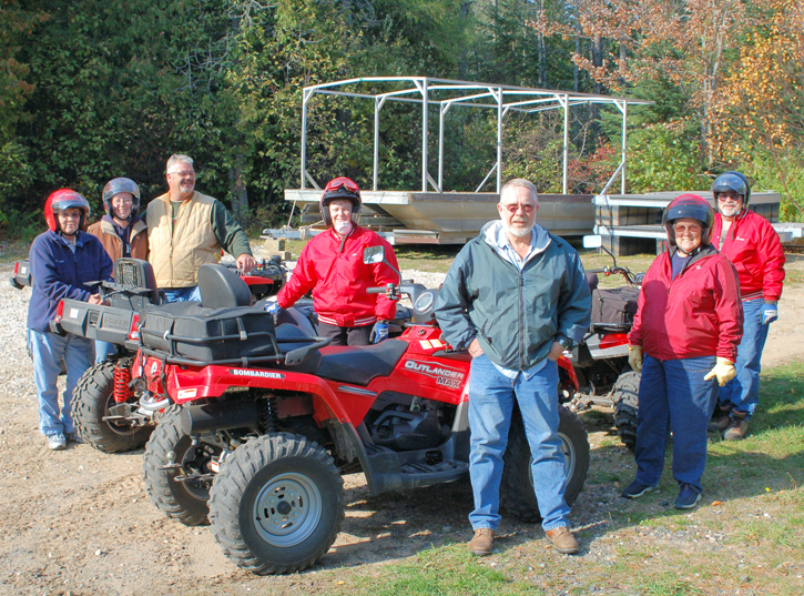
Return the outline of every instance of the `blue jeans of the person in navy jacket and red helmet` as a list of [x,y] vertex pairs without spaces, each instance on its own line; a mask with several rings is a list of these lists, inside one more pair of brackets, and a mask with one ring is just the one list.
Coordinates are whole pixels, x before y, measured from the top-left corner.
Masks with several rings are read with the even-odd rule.
[[[33,382],[39,402],[39,432],[44,436],[75,433],[72,423],[72,391],[78,380],[92,364],[94,346],[92,340],[68,334],[42,333],[28,330],[28,342],[33,356]],[[63,406],[59,410],[57,381],[61,372],[61,358],[67,366],[67,387],[62,395]]]

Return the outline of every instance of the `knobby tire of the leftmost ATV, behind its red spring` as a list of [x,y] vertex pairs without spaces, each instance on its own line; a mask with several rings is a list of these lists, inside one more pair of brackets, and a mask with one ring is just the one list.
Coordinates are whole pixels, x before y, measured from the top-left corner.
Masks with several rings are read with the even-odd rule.
[[114,402],[114,362],[90,366],[75,385],[72,416],[75,431],[84,443],[105,453],[139,449],[151,436],[153,426],[110,422],[109,407]]

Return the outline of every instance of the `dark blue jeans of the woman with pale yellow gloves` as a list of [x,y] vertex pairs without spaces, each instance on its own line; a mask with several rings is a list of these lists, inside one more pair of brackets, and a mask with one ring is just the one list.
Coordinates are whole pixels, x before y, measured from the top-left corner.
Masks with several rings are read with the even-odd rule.
[[673,478],[703,492],[706,423],[718,397],[718,382],[704,381],[714,356],[665,360],[645,355],[639,384],[637,482],[657,486],[673,433]]

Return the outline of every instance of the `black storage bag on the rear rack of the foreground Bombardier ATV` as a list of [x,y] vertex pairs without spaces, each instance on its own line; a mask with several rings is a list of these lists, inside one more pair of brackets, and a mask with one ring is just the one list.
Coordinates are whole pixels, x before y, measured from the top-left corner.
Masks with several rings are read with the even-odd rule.
[[[274,317],[258,306],[205,309],[173,302],[142,311],[143,345],[199,362],[272,356]],[[189,341],[193,340],[193,341]]]

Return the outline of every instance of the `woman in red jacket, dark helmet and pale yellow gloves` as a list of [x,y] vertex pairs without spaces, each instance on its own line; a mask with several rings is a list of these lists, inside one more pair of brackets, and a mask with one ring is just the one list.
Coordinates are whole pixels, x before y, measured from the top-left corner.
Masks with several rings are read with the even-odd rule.
[[743,324],[734,265],[710,244],[713,220],[701,196],[673,200],[662,218],[669,250],[642,281],[629,334],[629,363],[642,371],[642,378],[637,478],[623,491],[627,498],[657,489],[672,431],[675,507],[689,509],[701,501],[706,423],[718,384],[735,375]]

